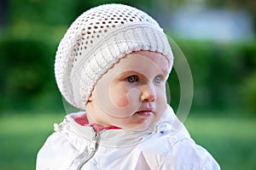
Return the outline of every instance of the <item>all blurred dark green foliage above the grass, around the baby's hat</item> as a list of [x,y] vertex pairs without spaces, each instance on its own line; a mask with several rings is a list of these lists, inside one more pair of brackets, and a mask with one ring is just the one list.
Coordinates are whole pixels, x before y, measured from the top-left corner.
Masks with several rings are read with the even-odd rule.
[[[3,2],[7,18],[4,20],[7,21],[0,27],[2,111],[62,108],[54,77],[55,50],[68,26],[84,10],[102,3],[126,3],[149,12],[149,8],[157,5],[146,0]],[[175,2],[179,1],[172,4]],[[188,59],[193,74],[195,97],[192,109],[248,108],[256,111],[255,38],[253,42],[224,43],[171,37]],[[169,82],[175,107],[179,97],[175,71],[172,71]]]

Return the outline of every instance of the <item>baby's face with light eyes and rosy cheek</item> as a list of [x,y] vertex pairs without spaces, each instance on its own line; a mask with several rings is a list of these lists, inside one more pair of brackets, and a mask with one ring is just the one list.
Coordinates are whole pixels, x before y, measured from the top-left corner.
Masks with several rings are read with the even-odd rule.
[[127,130],[143,130],[166,110],[168,61],[148,51],[120,59],[96,83],[86,105],[90,122]]

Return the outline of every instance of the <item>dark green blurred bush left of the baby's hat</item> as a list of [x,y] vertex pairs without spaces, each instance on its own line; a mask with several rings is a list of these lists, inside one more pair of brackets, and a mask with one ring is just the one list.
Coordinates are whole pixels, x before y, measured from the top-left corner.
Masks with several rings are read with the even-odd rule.
[[[8,37],[0,41],[0,106],[28,108],[46,88],[49,93],[53,78],[53,53],[42,40]],[[52,84],[52,85],[51,85]]]

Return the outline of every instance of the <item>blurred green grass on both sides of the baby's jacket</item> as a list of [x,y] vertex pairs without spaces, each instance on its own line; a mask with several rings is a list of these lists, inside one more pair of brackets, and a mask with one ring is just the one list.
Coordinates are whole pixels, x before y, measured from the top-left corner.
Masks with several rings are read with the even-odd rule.
[[[38,150],[53,132],[53,123],[61,122],[63,116],[54,113],[0,116],[1,169],[35,169]],[[190,113],[185,125],[196,143],[209,150],[222,169],[256,169],[256,116]]]

